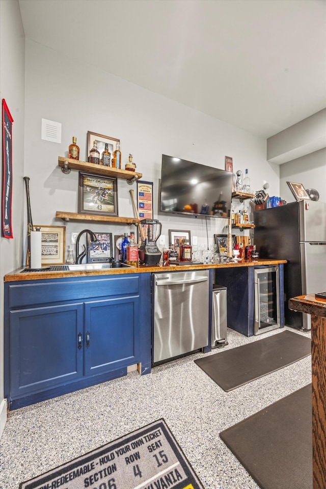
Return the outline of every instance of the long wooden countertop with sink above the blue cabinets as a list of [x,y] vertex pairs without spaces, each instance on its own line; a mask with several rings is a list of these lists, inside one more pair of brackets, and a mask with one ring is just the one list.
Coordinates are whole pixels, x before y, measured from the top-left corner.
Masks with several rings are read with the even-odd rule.
[[140,265],[135,268],[108,268],[104,270],[78,270],[78,271],[36,271],[23,272],[25,267],[17,268],[4,277],[5,282],[18,282],[21,280],[40,280],[40,279],[61,279],[65,277],[89,277],[99,275],[122,275],[122,274],[140,274],[140,273],[157,273],[168,271],[183,271],[183,270],[202,270],[209,268],[232,268],[241,266],[257,266],[257,265],[277,265],[286,263],[286,260],[264,260],[255,261],[242,260],[241,262],[219,263],[217,265],[169,265],[169,266],[149,266]]

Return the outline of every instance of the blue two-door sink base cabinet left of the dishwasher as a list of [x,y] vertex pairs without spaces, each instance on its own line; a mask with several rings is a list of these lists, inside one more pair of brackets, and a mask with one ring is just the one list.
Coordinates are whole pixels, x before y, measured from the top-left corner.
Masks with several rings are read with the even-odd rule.
[[149,373],[150,274],[5,283],[5,345],[10,409]]

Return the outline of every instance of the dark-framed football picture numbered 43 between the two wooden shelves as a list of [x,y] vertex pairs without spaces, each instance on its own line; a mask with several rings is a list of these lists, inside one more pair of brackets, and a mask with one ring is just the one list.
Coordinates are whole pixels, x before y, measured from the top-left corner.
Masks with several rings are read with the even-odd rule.
[[79,213],[118,215],[117,178],[79,172]]

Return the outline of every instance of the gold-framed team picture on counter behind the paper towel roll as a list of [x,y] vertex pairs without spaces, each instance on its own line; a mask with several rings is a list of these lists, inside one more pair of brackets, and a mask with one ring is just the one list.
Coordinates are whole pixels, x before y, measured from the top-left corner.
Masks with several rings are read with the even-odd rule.
[[42,265],[63,265],[65,263],[66,228],[64,226],[34,225],[42,233]]

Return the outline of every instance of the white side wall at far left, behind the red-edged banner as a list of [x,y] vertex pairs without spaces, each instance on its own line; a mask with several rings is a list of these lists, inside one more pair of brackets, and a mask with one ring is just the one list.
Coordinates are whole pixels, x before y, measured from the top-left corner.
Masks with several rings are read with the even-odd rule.
[[[14,119],[12,129],[12,225],[14,238],[0,238],[0,436],[3,432],[7,415],[7,406],[4,399],[3,364],[4,275],[21,266],[22,260],[22,211],[24,197],[22,180],[24,165],[24,44],[24,32],[18,1],[0,0],[0,92],[1,98],[6,100],[10,113]],[[2,135],[0,139],[2,141]]]

